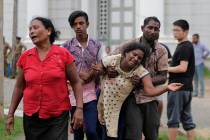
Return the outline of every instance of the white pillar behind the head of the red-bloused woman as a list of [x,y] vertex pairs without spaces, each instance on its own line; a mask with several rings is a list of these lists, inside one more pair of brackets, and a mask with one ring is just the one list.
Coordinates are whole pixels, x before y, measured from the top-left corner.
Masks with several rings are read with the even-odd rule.
[[[27,0],[27,26],[31,20],[37,16],[48,17],[48,0]],[[28,28],[27,27],[27,28]],[[24,43],[28,48],[32,47],[32,42],[29,38],[29,30],[27,29],[27,35]]]

